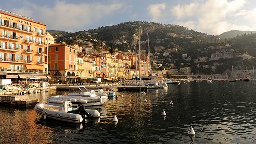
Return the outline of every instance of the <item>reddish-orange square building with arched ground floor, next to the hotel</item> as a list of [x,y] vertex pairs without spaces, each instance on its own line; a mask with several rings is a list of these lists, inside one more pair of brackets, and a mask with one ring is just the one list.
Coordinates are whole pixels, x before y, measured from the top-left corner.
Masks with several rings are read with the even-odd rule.
[[49,45],[48,73],[56,81],[75,82],[78,78],[76,49],[65,42]]

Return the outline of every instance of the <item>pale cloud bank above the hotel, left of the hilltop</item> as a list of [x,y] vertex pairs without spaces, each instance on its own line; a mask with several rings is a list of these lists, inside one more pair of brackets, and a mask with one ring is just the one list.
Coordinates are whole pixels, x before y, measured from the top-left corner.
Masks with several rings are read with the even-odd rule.
[[[30,10],[27,10],[30,7]],[[30,16],[33,20],[47,24],[47,29],[72,30],[84,29],[93,22],[100,21],[104,16],[113,14],[123,7],[123,4],[113,3],[103,5],[101,3],[71,4],[64,1],[56,1],[53,7],[46,7],[29,3],[26,8],[14,9],[18,14]]]

